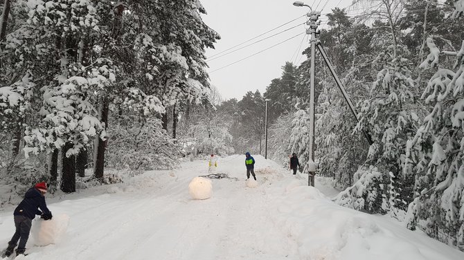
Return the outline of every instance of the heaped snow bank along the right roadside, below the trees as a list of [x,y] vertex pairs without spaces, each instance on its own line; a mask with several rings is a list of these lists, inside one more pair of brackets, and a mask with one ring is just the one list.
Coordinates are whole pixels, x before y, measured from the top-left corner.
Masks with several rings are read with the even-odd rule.
[[[273,221],[298,241],[301,259],[454,259],[443,254],[441,243],[381,216],[335,205],[318,189],[298,185],[298,180],[283,181],[272,189],[267,194],[276,201]],[[432,243],[440,245],[431,248]]]

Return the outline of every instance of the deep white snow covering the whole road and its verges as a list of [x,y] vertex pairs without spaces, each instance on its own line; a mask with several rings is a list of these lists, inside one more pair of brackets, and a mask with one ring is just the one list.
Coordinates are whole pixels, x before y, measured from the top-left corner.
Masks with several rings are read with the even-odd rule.
[[[55,244],[17,259],[464,259],[464,253],[405,229],[385,216],[340,207],[337,191],[316,177],[294,176],[256,159],[257,187],[247,187],[244,156],[218,158],[211,198],[189,194],[208,161],[148,171],[124,183],[47,198],[55,216],[69,216]],[[328,196],[326,196],[328,195]],[[14,232],[12,210],[0,212],[0,245]],[[34,221],[33,225],[38,222]]]

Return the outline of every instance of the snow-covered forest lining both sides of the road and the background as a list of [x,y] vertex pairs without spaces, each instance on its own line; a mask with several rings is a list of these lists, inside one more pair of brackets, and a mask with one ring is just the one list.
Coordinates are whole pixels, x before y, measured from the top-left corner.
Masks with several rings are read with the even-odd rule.
[[[316,55],[316,174],[341,190],[336,203],[464,250],[464,1],[353,5],[369,8],[334,8],[318,38],[357,118]],[[267,157],[288,167],[296,153],[308,173],[310,48],[265,93],[222,100],[205,55],[220,35],[199,0],[1,8],[0,182],[10,193],[39,180],[72,193],[179,158],[264,155],[266,103]]]

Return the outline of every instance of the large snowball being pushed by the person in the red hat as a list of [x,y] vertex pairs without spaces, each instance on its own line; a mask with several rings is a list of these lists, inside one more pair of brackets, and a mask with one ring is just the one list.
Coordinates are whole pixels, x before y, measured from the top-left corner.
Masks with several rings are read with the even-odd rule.
[[53,219],[34,221],[32,234],[34,244],[39,246],[58,243],[68,228],[69,216],[60,214]]

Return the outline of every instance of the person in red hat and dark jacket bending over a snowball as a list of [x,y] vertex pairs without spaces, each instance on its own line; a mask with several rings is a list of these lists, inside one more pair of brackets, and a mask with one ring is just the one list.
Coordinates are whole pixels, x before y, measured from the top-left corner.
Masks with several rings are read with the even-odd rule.
[[40,215],[44,220],[52,218],[51,212],[48,210],[45,203],[44,195],[46,191],[46,183],[37,183],[26,192],[24,199],[16,207],[13,213],[15,216],[16,232],[13,234],[11,241],[8,242],[8,248],[6,248],[5,252],[7,257],[15,250],[18,241],[19,245],[16,254],[24,254],[26,251],[26,243],[29,238],[30,227],[32,226],[35,215]]

